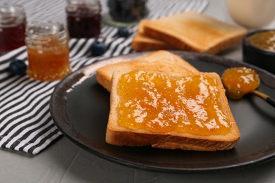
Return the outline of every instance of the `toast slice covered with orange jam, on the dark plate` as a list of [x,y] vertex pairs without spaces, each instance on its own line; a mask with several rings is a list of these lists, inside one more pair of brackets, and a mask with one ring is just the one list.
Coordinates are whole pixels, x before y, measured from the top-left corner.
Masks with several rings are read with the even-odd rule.
[[[156,78],[161,77],[169,80],[159,82]],[[204,79],[195,82],[197,78]],[[185,83],[193,85],[190,87]],[[175,86],[178,86],[177,89],[173,88]],[[188,89],[195,93],[188,92]],[[196,91],[200,94],[197,95]],[[181,105],[177,102],[173,105],[174,94]],[[173,127],[175,124],[176,127]],[[107,143],[218,151],[232,149],[239,138],[240,132],[216,73],[200,72],[186,77],[143,70],[114,72]]]

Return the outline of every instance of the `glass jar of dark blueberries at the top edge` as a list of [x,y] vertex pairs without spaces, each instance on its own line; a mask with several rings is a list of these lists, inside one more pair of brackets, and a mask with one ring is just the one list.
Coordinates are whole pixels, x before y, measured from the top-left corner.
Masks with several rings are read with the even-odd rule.
[[104,22],[116,27],[138,24],[148,14],[147,0],[107,0],[109,13],[104,15]]

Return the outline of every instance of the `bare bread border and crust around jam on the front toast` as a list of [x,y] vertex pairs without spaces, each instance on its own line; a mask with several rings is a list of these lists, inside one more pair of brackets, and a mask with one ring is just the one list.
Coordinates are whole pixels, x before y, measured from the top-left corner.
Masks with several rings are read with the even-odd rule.
[[118,114],[116,108],[119,103],[119,96],[116,91],[118,78],[128,71],[114,72],[113,87],[111,89],[111,110],[106,129],[106,142],[117,146],[148,146],[161,149],[184,149],[194,151],[221,151],[232,149],[240,139],[238,126],[233,118],[228,101],[225,96],[219,75],[216,73],[204,73],[219,80],[219,91],[221,92],[222,106],[224,113],[228,114],[231,124],[231,131],[228,134],[196,135],[187,132],[165,132],[156,133],[149,130],[132,130],[118,125]]

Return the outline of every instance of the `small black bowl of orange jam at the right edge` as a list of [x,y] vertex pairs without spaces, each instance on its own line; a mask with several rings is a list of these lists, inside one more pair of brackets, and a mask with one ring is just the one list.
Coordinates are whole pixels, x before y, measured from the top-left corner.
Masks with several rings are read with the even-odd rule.
[[243,61],[275,74],[275,30],[254,30],[243,37]]

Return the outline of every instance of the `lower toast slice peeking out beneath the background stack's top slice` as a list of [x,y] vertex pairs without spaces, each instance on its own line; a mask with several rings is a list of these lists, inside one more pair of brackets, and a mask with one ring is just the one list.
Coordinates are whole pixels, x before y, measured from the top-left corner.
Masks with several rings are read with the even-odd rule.
[[150,50],[160,50],[160,49],[176,49],[165,42],[161,42],[158,39],[153,39],[152,37],[147,37],[144,34],[143,26],[144,23],[149,22],[149,20],[140,20],[138,25],[138,32],[132,42],[132,48],[135,51],[150,51]]

